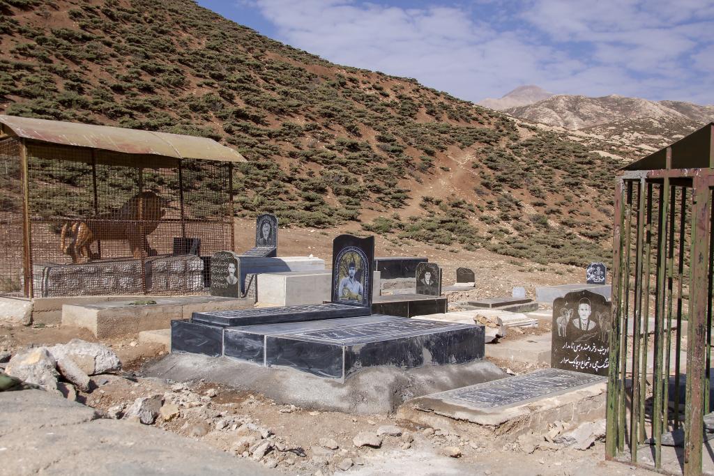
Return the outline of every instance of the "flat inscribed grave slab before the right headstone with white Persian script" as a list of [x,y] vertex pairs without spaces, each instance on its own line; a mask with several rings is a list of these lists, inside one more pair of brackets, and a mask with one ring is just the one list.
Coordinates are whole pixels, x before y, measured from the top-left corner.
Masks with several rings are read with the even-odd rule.
[[534,370],[526,375],[515,375],[426,395],[419,399],[418,405],[429,408],[438,402],[439,407],[446,404],[452,407],[466,407],[469,410],[488,411],[561,395],[605,380],[598,375],[545,368]]

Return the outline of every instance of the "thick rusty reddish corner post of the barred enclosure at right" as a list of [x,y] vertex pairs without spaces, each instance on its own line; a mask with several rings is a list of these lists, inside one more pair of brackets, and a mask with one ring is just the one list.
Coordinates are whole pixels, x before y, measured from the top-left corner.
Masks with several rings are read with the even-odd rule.
[[692,252],[690,256],[689,339],[687,341],[687,394],[684,427],[683,474],[685,476],[700,475],[702,472],[710,191],[707,181],[698,175],[693,178],[692,195]]

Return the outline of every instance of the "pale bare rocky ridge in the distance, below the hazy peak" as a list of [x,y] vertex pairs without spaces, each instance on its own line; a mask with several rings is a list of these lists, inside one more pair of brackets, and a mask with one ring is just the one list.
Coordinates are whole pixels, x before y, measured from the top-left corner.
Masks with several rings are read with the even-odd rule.
[[[627,121],[655,120],[667,123],[703,124],[714,120],[714,106],[698,106],[683,101],[648,101],[612,94],[600,98],[559,94],[524,106],[506,108],[504,112],[550,126],[584,129]],[[617,128],[618,126],[613,126]],[[632,125],[635,127],[635,124]],[[658,126],[655,126],[658,127]],[[679,130],[678,133],[683,133]]]

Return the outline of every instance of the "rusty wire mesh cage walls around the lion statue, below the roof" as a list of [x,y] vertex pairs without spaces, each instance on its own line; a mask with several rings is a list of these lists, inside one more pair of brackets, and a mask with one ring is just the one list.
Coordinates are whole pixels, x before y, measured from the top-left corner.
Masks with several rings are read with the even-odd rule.
[[3,295],[200,294],[233,249],[231,163],[10,137],[0,166]]

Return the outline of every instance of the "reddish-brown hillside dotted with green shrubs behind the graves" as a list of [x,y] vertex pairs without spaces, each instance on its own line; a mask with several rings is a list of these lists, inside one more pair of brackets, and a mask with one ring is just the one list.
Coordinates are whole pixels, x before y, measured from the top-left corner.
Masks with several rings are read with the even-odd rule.
[[[0,12],[1,112],[221,141],[248,159],[239,216],[539,263],[608,259],[629,158],[617,147],[593,153],[569,131],[331,64],[191,0],[0,0]],[[51,178],[68,197],[70,172]]]

